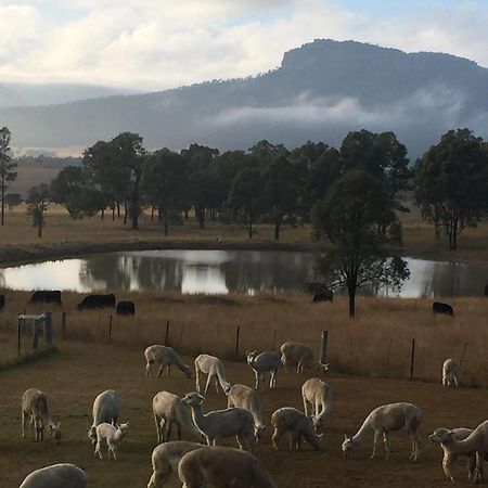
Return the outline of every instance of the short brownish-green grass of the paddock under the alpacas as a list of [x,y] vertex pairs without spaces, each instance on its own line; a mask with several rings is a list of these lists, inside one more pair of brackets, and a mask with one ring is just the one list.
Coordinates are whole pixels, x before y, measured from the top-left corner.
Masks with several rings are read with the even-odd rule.
[[[143,488],[151,475],[151,452],[156,445],[151,414],[152,397],[162,389],[183,395],[194,389],[193,381],[179,372],[171,378],[149,380],[144,373],[142,348],[115,345],[62,342],[61,352],[50,359],[0,373],[0,473],[2,488],[16,488],[26,474],[48,464],[73,462],[89,475],[89,488]],[[193,357],[183,358],[192,364]],[[226,361],[232,383],[252,385],[251,369],[240,362]],[[300,385],[307,376],[280,373],[275,390],[266,390],[261,402],[269,423],[271,413],[283,406],[301,407]],[[277,452],[270,442],[270,432],[255,448],[266,468],[280,488],[335,487],[435,487],[447,486],[437,446],[426,440],[439,426],[476,426],[486,419],[488,397],[481,389],[442,389],[437,383],[411,383],[394,380],[363,378],[330,374],[326,381],[335,394],[330,425],[325,428],[323,450],[309,446],[298,453]],[[21,438],[20,401],[25,389],[38,387],[51,398],[53,419],[61,421],[63,439],[60,446],[50,440],[36,444]],[[120,421],[131,425],[128,437],[119,447],[117,462],[93,458],[93,447],[86,436],[91,420],[94,397],[106,388],[115,388],[123,398]],[[394,453],[386,461],[383,452],[369,460],[372,439],[350,459],[343,460],[341,442],[344,433],[351,434],[376,406],[393,401],[411,401],[424,412],[421,428],[423,452],[413,463],[408,460],[410,444],[404,433],[393,437]],[[223,394],[209,393],[205,409],[227,406]],[[470,408],[466,408],[470,406]],[[232,440],[226,442],[234,446]],[[460,462],[455,473],[466,485],[465,470]],[[168,487],[179,487],[171,478]]]

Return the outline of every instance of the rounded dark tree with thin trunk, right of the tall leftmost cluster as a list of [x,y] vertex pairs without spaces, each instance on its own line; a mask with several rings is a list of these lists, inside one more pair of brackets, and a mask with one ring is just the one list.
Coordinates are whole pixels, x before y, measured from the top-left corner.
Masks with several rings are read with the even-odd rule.
[[168,235],[171,215],[185,205],[185,159],[178,153],[163,149],[146,157],[141,190],[146,202],[157,208],[165,235]]

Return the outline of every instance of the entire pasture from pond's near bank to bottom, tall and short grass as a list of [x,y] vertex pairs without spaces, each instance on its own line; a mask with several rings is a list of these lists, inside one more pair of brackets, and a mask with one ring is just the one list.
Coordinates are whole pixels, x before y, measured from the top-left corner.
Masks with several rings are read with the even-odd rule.
[[[29,294],[9,292],[1,316],[1,336],[12,334],[15,317],[48,307],[26,305]],[[143,488],[151,475],[151,452],[156,445],[151,401],[162,389],[183,395],[194,389],[194,381],[175,370],[170,378],[147,378],[144,370],[145,346],[166,341],[183,354],[193,365],[201,351],[226,360],[231,383],[254,384],[254,374],[245,364],[245,349],[278,348],[286,339],[308,343],[318,351],[321,329],[329,329],[328,361],[332,372],[325,377],[334,390],[335,403],[325,428],[323,450],[305,445],[301,452],[277,452],[268,431],[255,453],[278,486],[446,486],[438,446],[426,436],[439,426],[475,427],[486,420],[486,390],[465,385],[486,386],[487,308],[481,299],[452,300],[457,317],[433,317],[429,300],[361,298],[359,316],[347,318],[346,300],[334,304],[310,304],[310,297],[295,296],[181,296],[127,294],[118,299],[133,299],[134,318],[113,317],[108,336],[110,311],[76,311],[81,295],[63,294],[66,311],[66,339],[61,339],[61,310],[54,310],[55,344],[60,352],[0,372],[0,472],[2,488],[16,488],[35,468],[55,462],[74,462],[87,470],[90,488],[117,486]],[[235,331],[240,326],[240,344],[235,356]],[[414,376],[429,382],[409,382],[410,343],[416,337]],[[459,389],[440,386],[444,359],[459,360],[467,342]],[[403,345],[404,342],[404,345]],[[14,343],[14,342],[13,342]],[[2,339],[4,347],[11,338]],[[14,346],[15,344],[13,344]],[[347,373],[347,375],[345,374]],[[314,374],[314,373],[313,373]],[[362,375],[362,376],[359,376]],[[370,376],[370,377],[368,377]],[[388,377],[389,376],[389,377]],[[284,406],[303,409],[300,386],[308,375],[280,372],[275,390],[266,390],[261,403],[265,422]],[[435,383],[431,383],[435,382]],[[61,421],[63,440],[55,447],[50,439],[35,444],[21,438],[20,401],[29,387],[38,387],[50,396],[53,420]],[[119,447],[119,461],[95,460],[88,440],[87,423],[91,422],[94,397],[107,388],[123,398],[120,421],[129,421],[128,437]],[[365,415],[382,403],[410,401],[424,411],[421,427],[423,452],[418,463],[408,460],[410,442],[404,433],[393,436],[394,453],[389,461],[369,460],[372,437],[343,460],[344,434],[354,434]],[[204,410],[226,408],[223,394],[209,390]],[[233,446],[232,441],[226,442]],[[15,466],[15,470],[12,468]],[[455,474],[466,484],[461,461]],[[168,487],[179,487],[172,478]],[[462,486],[462,485],[461,485]]]

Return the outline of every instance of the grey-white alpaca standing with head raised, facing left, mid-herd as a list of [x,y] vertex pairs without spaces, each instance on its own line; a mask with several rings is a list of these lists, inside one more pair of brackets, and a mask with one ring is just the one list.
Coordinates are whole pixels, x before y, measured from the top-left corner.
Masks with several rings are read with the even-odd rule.
[[208,446],[215,446],[223,437],[235,436],[239,447],[251,451],[255,437],[253,414],[248,410],[235,408],[203,413],[204,397],[196,391],[187,394],[181,400],[191,407],[193,422],[207,438]]

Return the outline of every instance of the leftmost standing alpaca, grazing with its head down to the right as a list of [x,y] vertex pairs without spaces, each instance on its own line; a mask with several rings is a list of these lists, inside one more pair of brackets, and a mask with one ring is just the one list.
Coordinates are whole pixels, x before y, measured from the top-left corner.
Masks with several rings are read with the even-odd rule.
[[36,441],[43,440],[44,427],[49,428],[54,444],[61,441],[60,423],[52,421],[48,396],[36,388],[27,389],[22,397],[22,437],[25,438],[25,423],[29,422]]

